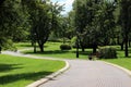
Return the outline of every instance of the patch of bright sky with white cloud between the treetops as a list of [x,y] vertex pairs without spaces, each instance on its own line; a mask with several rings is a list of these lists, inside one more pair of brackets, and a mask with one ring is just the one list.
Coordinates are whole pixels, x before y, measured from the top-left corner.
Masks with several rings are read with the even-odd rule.
[[72,10],[72,3],[74,0],[50,0],[50,1],[52,2],[58,1],[59,4],[64,4],[64,12],[62,12],[61,14],[67,14]]

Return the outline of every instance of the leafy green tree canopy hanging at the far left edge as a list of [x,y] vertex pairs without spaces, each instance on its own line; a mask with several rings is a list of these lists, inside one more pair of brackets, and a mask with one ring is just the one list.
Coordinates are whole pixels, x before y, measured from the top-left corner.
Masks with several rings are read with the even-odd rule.
[[21,0],[1,0],[0,2],[0,46],[7,45],[8,39],[12,40],[19,29],[25,23],[25,15],[22,12]]

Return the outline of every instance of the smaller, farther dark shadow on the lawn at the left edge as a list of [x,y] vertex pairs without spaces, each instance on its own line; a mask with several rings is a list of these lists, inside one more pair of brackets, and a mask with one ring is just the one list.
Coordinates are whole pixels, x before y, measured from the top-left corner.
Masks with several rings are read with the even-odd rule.
[[16,69],[22,69],[21,64],[0,64],[0,72],[8,72]]

